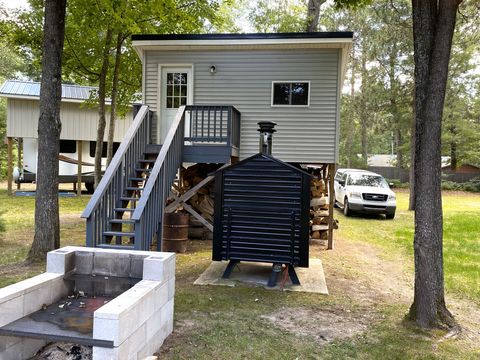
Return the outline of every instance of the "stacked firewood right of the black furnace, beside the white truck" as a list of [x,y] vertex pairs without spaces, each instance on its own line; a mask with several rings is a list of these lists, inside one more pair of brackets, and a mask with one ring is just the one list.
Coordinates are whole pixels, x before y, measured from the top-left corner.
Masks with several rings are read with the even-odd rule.
[[[315,175],[315,174],[314,174]],[[328,239],[329,203],[326,181],[320,174],[314,176],[310,183],[310,237],[312,239]],[[338,228],[337,221],[333,222]]]

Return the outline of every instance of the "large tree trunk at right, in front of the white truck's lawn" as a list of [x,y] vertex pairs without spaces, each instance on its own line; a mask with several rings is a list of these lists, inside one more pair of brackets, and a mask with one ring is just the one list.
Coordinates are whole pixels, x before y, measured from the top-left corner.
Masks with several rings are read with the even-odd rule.
[[421,327],[455,326],[445,304],[441,125],[448,63],[461,0],[412,0],[415,59],[415,292]]

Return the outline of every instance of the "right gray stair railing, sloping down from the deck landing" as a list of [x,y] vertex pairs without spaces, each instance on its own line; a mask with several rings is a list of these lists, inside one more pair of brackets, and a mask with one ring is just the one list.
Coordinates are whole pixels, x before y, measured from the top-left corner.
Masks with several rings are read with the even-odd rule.
[[131,217],[135,221],[135,249],[150,250],[156,234],[157,250],[161,251],[165,202],[182,164],[184,134],[185,106],[181,106]]

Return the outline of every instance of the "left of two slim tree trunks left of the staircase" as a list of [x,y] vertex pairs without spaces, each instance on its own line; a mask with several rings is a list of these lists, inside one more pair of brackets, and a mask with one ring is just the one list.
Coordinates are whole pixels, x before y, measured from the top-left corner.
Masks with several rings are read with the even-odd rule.
[[110,46],[112,43],[112,29],[108,28],[105,35],[105,47],[103,49],[102,68],[100,70],[100,78],[98,82],[98,128],[97,128],[97,142],[95,148],[95,172],[94,181],[95,188],[98,186],[102,178],[102,152],[103,139],[105,137],[105,99],[106,99],[106,83],[108,66],[110,65]]

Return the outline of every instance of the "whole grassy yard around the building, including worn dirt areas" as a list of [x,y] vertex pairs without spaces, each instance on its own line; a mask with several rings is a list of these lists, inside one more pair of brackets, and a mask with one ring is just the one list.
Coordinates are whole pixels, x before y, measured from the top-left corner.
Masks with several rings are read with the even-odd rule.
[[[62,245],[84,244],[79,215],[88,197],[62,198]],[[345,218],[334,251],[321,258],[330,295],[252,286],[194,286],[211,262],[211,243],[177,255],[175,325],[166,359],[478,359],[480,358],[480,196],[447,193],[445,272],[459,336],[423,332],[404,321],[412,300],[413,216],[398,194],[393,221]],[[33,238],[34,199],[0,190],[0,287],[43,271],[22,264]]]

